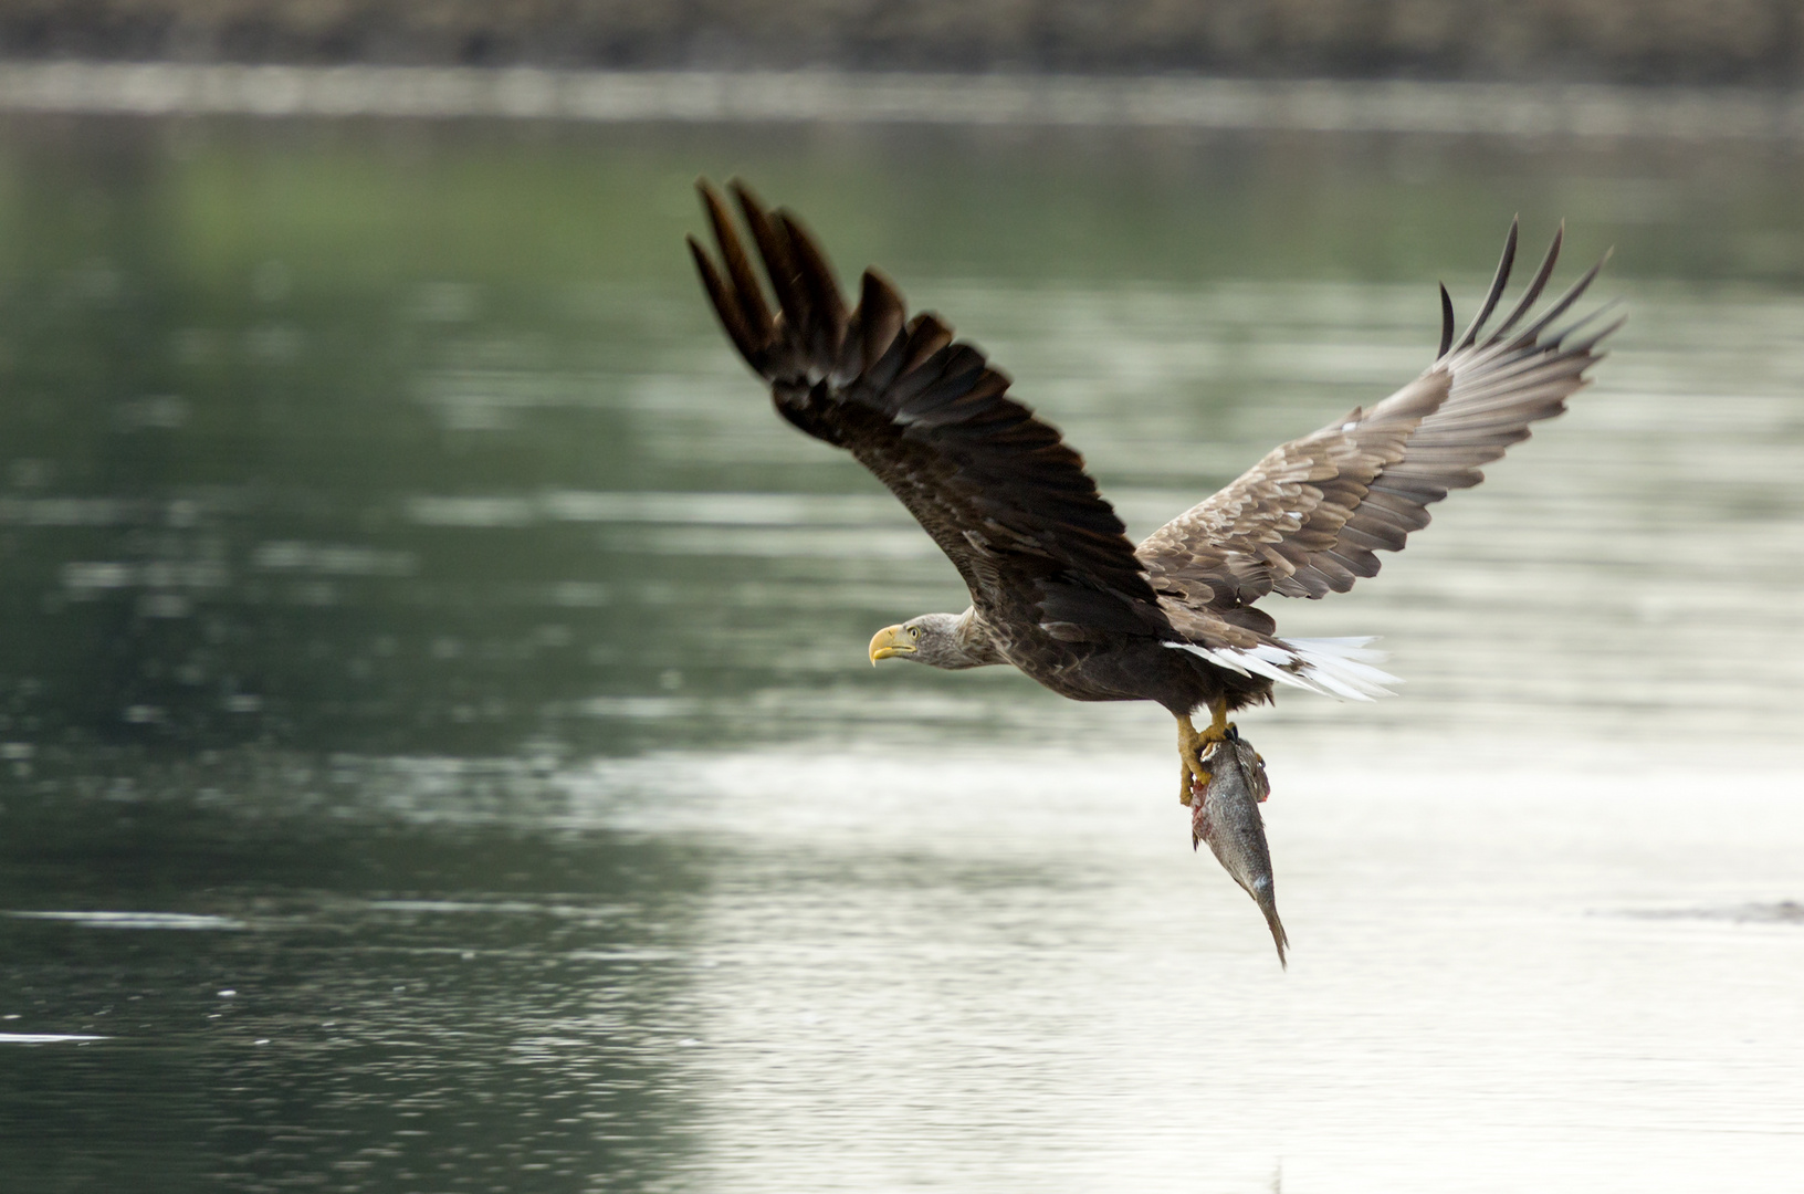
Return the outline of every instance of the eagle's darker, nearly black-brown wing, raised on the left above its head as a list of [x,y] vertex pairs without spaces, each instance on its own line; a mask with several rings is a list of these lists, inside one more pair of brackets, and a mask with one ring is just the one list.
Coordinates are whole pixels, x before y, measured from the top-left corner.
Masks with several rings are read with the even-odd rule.
[[1059,433],[1007,395],[1008,377],[938,316],[907,317],[866,271],[846,310],[832,267],[787,211],[731,184],[778,308],[722,197],[702,202],[720,265],[691,236],[702,283],[778,413],[877,474],[958,568],[987,615],[1030,617],[1066,640],[1167,635],[1113,507]]

